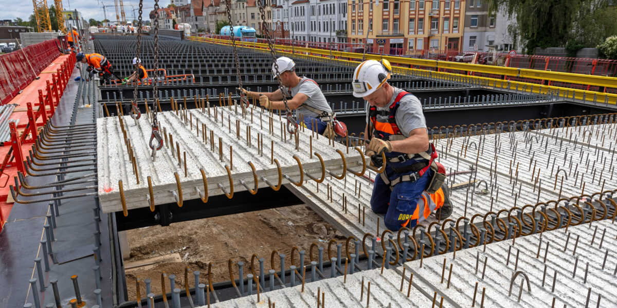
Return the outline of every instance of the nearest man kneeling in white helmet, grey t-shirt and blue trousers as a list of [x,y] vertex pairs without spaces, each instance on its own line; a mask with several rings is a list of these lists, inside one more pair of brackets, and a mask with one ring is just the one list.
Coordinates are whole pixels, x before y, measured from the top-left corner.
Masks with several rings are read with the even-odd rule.
[[373,165],[386,164],[375,179],[371,209],[385,214],[384,224],[395,231],[414,227],[433,211],[445,219],[452,206],[442,187],[444,169],[435,160],[420,100],[391,86],[391,74],[387,60],[367,60],[355,69],[352,87],[355,97],[368,102],[366,155]]

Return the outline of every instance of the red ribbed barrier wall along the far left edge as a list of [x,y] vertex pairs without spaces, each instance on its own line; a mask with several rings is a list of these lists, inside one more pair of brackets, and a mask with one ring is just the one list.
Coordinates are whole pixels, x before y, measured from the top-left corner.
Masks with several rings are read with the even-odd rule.
[[60,55],[62,42],[50,39],[0,55],[0,103],[8,103]]

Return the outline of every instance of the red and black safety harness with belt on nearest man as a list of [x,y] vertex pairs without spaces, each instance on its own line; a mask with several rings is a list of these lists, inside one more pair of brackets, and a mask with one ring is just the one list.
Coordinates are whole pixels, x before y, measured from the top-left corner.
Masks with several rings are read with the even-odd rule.
[[[377,110],[376,106],[371,106],[369,108],[368,116],[371,124],[373,124],[373,137],[388,141],[403,140],[406,138],[396,123],[396,111],[400,106],[400,100],[408,94],[410,93],[401,91],[394,99],[394,103],[390,105],[389,110]],[[378,115],[387,116],[387,122],[378,122]],[[437,151],[433,144],[430,144],[426,152],[413,155],[400,152],[386,153],[386,161],[390,168],[397,174],[400,174],[400,176],[393,180],[389,180],[386,176],[386,172],[382,172],[380,174],[381,179],[383,179],[386,184],[389,184],[391,188],[400,182],[415,182],[420,179],[431,166],[437,169],[436,158]]]

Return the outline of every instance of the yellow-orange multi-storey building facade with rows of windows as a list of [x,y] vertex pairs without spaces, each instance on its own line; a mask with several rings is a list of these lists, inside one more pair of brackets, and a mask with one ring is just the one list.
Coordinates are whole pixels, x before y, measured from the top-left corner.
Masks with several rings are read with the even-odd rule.
[[[469,0],[471,1],[471,0]],[[347,37],[386,54],[462,48],[465,0],[348,0]]]

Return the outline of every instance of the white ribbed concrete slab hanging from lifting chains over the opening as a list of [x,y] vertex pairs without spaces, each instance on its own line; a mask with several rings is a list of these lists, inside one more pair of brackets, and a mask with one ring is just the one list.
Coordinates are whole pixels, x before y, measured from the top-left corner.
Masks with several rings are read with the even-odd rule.
[[251,105],[243,111],[233,104],[205,103],[200,107],[158,113],[164,147],[154,160],[149,147],[151,122],[145,114],[139,120],[130,116],[122,116],[122,121],[98,120],[99,198],[104,213],[151,203],[181,206],[183,200],[223,193],[231,198],[233,192],[255,190],[255,185],[268,187],[266,179],[272,186],[279,181],[301,185],[309,175],[319,179],[331,172],[340,177],[345,169],[362,169],[354,148],[304,128],[296,140],[286,131],[284,117],[261,108]]

